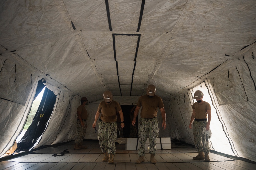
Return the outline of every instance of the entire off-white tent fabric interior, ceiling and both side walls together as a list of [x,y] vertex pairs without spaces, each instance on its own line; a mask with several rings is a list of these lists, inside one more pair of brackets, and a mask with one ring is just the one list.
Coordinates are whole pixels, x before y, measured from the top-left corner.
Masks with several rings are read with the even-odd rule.
[[[159,136],[194,144],[194,92],[211,104],[211,149],[256,161],[255,0],[0,2],[0,155],[26,123],[37,82],[57,95],[33,148],[74,140],[86,96],[136,105],[147,85],[165,105]],[[97,139],[88,128],[87,139]]]

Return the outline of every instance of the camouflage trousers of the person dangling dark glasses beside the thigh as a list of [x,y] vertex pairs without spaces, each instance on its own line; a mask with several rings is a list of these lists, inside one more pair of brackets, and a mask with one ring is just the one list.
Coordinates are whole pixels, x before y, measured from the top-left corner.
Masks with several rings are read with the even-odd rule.
[[117,135],[116,122],[99,122],[98,139],[102,152],[115,154],[115,140]]

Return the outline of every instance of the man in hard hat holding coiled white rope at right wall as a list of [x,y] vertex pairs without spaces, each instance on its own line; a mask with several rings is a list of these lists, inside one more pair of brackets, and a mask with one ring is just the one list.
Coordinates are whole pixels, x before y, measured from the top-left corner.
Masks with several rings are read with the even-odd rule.
[[[194,94],[194,99],[196,99],[197,102],[195,102],[192,105],[192,116],[189,123],[189,128],[192,128],[193,124],[193,135],[194,135],[194,143],[196,147],[196,151],[198,151],[198,155],[193,157],[194,160],[205,160],[206,162],[209,162],[209,142],[208,138],[206,138],[205,142],[202,142],[202,139],[204,139],[204,135],[202,134],[203,128],[206,127],[206,130],[210,129],[210,122],[211,122],[211,106],[208,102],[203,101],[204,94],[202,91],[197,90]],[[194,121],[195,120],[195,121]],[[205,154],[204,154],[205,153]]]

